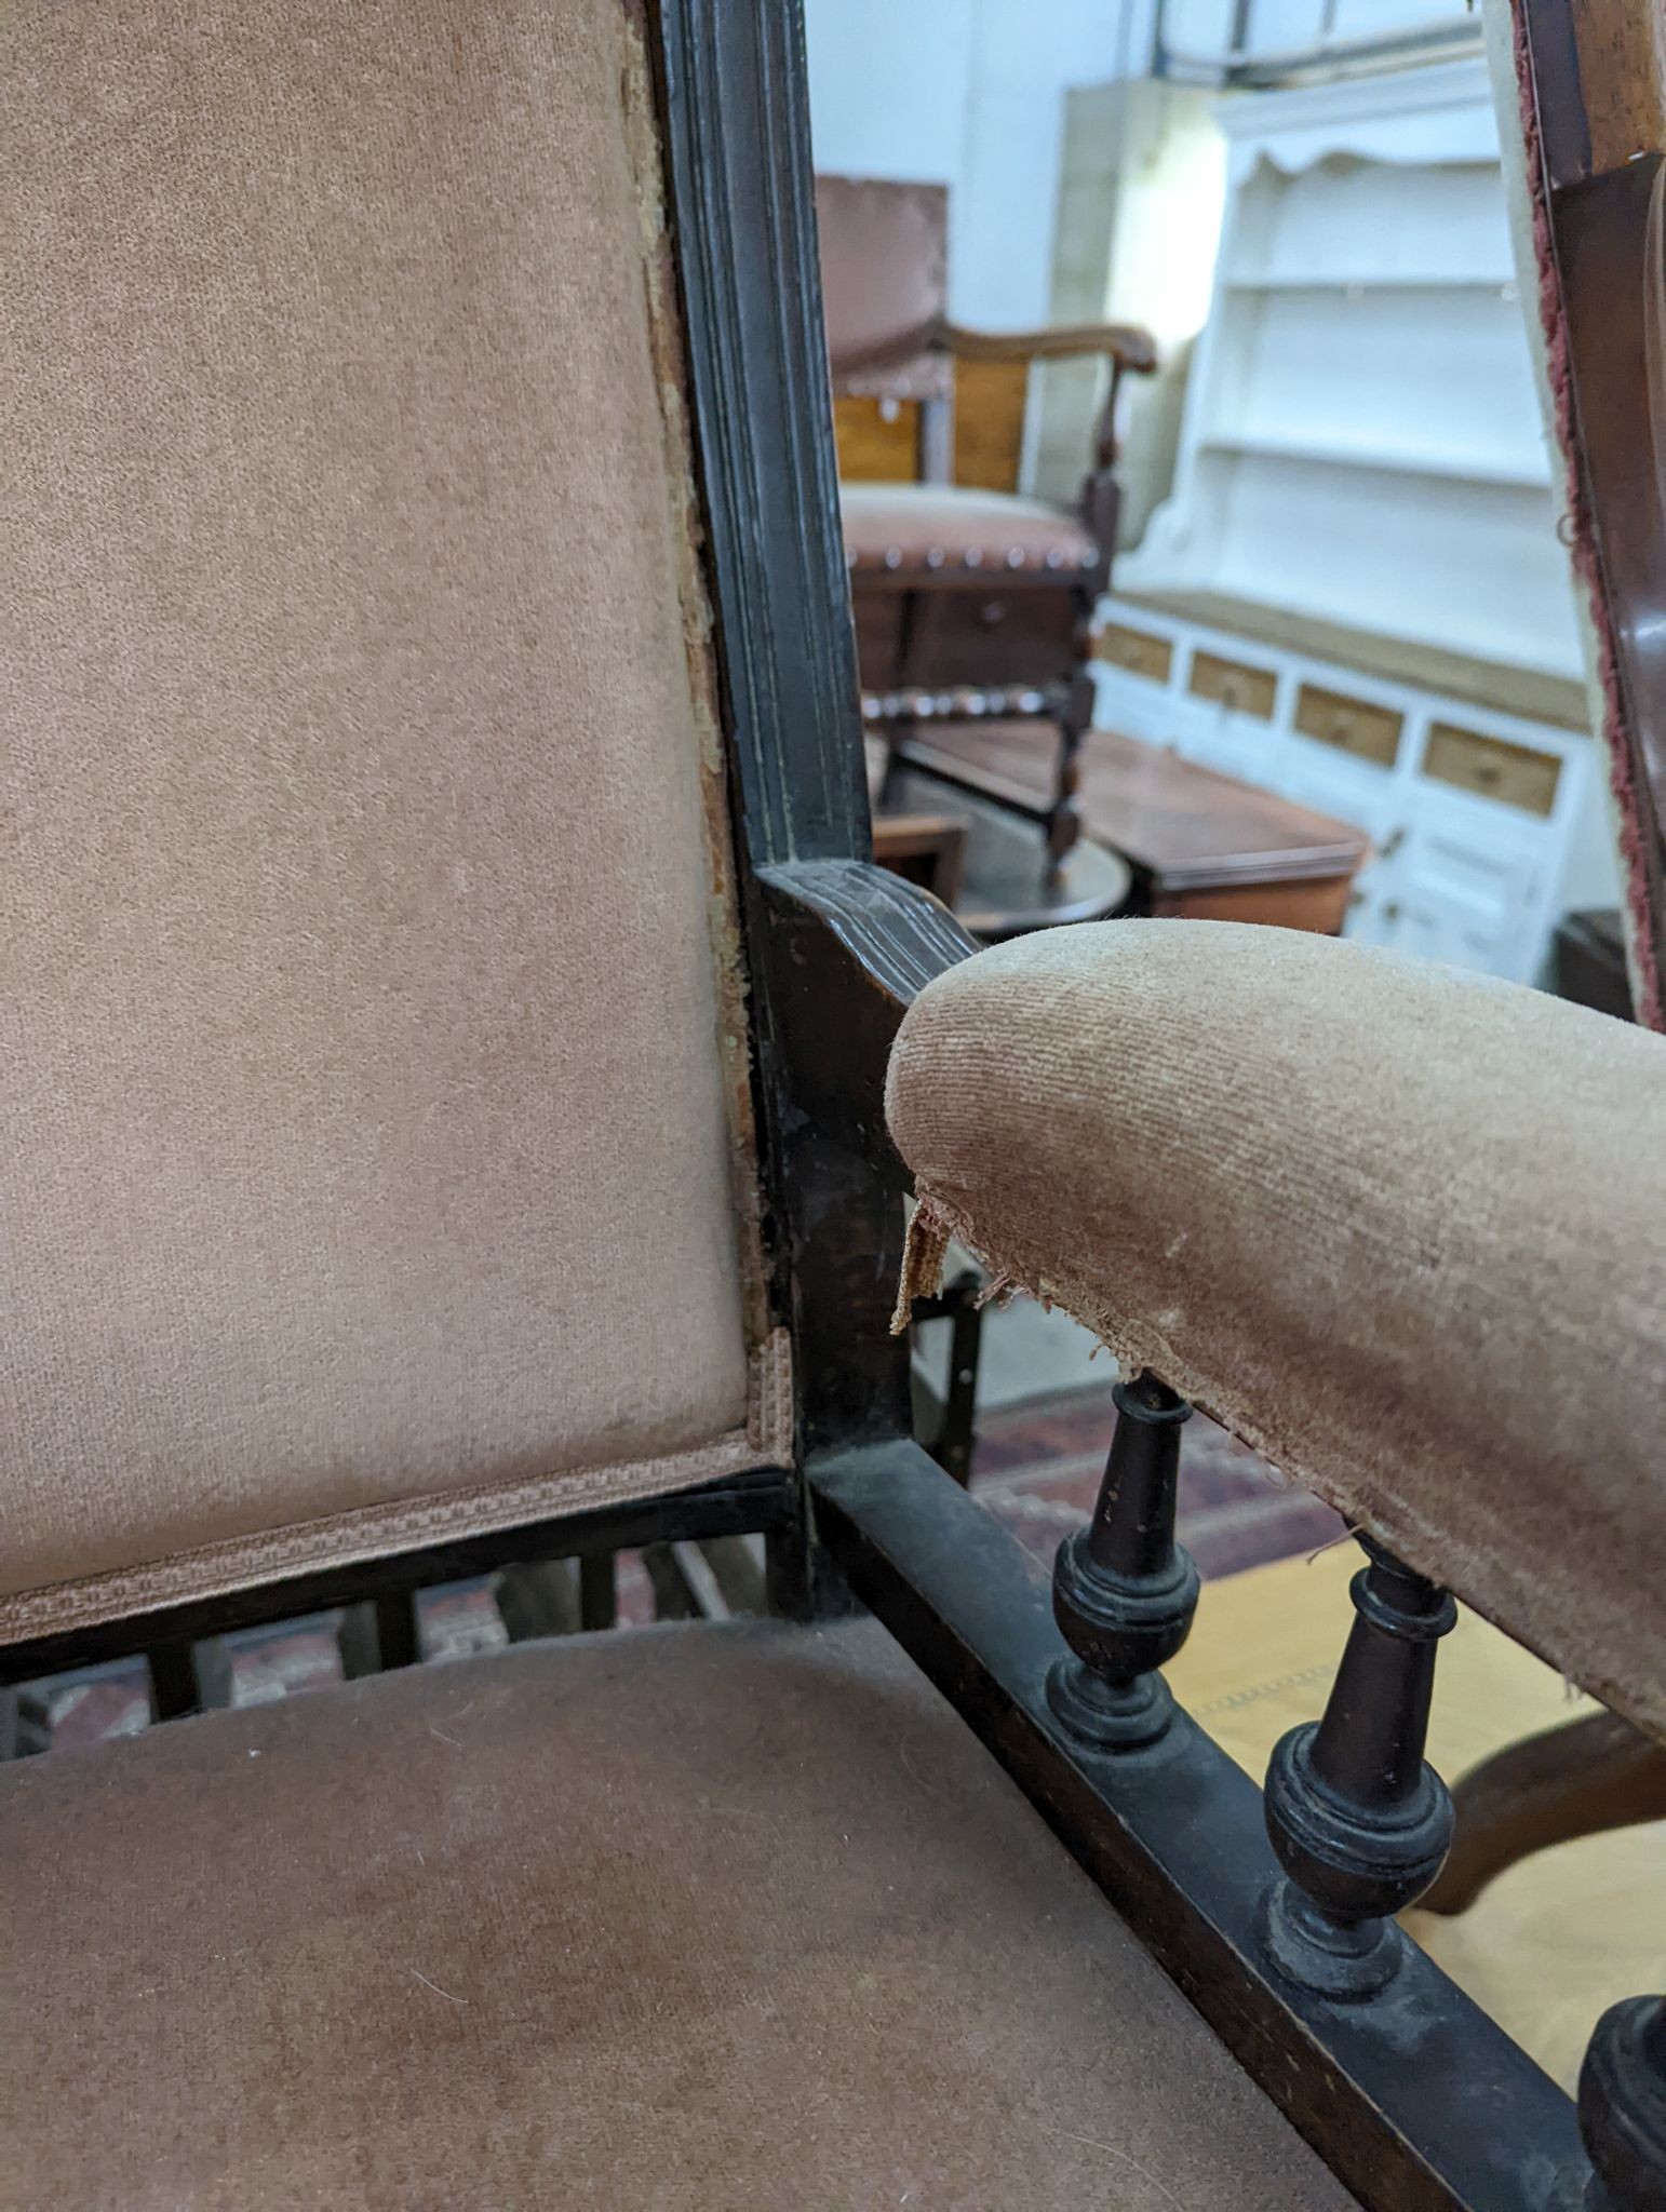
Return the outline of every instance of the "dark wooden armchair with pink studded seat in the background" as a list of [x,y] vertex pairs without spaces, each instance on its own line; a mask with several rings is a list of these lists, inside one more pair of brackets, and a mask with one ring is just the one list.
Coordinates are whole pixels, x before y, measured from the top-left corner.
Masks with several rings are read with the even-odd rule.
[[[863,714],[889,757],[989,792],[976,768],[923,745],[934,728],[1029,721],[1053,748],[1051,796],[993,796],[1047,825],[1049,849],[1080,832],[1077,748],[1093,719],[1093,608],[1111,575],[1120,487],[1117,398],[1157,365],[1122,323],[993,334],[949,321],[949,195],[934,184],[816,179],[827,352],[836,394],[916,407],[914,482],[839,487]],[[958,361],[1102,354],[1111,376],[1075,509],[954,478]]]

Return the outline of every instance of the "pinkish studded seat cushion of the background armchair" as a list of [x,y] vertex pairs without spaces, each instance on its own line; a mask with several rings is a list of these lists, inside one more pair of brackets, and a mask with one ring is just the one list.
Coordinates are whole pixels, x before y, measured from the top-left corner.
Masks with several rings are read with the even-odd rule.
[[885,575],[954,568],[1095,568],[1100,549],[1064,507],[958,484],[841,484],[845,557]]

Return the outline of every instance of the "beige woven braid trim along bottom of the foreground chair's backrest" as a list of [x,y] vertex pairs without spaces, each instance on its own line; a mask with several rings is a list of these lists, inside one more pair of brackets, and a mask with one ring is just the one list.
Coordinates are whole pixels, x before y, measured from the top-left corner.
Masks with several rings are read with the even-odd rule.
[[66,1628],[153,1613],[159,1606],[226,1597],[290,1575],[356,1566],[403,1551],[471,1535],[491,1535],[522,1522],[560,1520],[635,1498],[690,1491],[723,1475],[792,1467],[792,1352],[785,1329],[774,1329],[748,1360],[748,1420],[706,1444],[639,1460],[487,1482],[431,1498],[356,1506],[321,1520],[228,1537],[144,1566],[113,1568],[77,1582],[55,1582],[0,1597],[0,1646]]

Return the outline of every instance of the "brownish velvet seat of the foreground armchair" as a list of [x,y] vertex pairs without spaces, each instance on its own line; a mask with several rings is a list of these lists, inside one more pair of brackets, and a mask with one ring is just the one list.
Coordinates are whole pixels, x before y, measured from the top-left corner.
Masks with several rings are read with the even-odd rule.
[[1352,2203],[872,1624],[215,1712],[0,1834],[9,2205]]

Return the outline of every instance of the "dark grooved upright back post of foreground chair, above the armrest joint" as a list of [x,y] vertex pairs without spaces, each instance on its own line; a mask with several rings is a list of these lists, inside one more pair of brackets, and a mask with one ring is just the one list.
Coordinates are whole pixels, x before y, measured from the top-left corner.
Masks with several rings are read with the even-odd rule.
[[662,0],[673,221],[754,865],[867,858],[796,0]]

